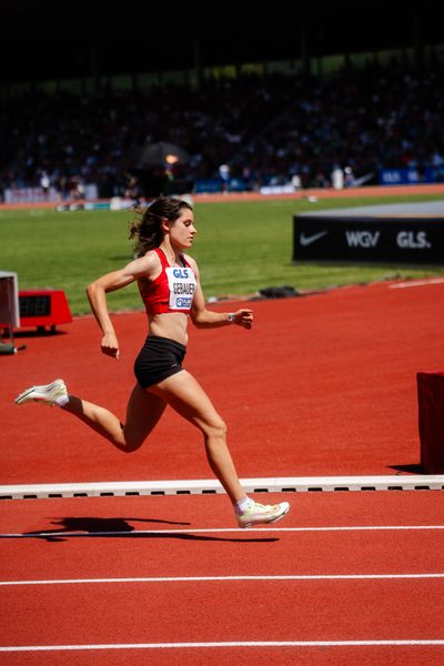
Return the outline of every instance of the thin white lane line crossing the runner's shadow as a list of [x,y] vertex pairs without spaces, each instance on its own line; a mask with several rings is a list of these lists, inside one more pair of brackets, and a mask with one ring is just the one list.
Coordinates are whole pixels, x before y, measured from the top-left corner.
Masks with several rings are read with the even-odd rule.
[[321,527],[251,527],[242,529],[240,527],[203,527],[194,529],[192,527],[184,529],[117,529],[115,532],[63,532],[63,531],[41,531],[41,532],[12,532],[0,534],[0,538],[50,538],[50,537],[89,537],[89,536],[143,536],[143,535],[168,535],[183,534],[192,537],[193,534],[243,534],[248,536],[253,532],[260,532],[263,536],[276,532],[380,532],[380,531],[404,531],[404,529],[444,529],[444,525],[339,525]]

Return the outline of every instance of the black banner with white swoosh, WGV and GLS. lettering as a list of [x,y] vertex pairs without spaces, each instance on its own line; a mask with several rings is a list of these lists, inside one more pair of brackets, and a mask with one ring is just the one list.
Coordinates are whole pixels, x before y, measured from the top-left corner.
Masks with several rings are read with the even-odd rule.
[[294,215],[293,261],[444,264],[444,216]]

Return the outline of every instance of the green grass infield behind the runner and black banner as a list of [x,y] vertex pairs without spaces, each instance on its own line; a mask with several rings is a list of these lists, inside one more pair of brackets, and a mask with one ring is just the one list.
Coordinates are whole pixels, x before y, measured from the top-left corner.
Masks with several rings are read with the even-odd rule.
[[[442,196],[265,200],[195,204],[198,236],[192,255],[205,297],[252,295],[268,286],[296,290],[366,283],[393,278],[443,275],[444,266],[294,264],[293,214],[332,208],[430,201]],[[89,312],[84,289],[132,256],[130,212],[0,211],[0,270],[19,275],[19,289],[65,292],[72,314]],[[109,296],[112,311],[141,307],[135,285]]]

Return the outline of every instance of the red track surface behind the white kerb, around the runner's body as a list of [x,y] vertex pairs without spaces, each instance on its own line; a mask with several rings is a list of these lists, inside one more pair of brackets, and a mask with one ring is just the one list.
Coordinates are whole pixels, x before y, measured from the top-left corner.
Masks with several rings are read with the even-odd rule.
[[[191,330],[185,367],[226,421],[241,477],[394,474],[418,464],[416,373],[443,370],[444,283],[415,284],[252,302],[250,332]],[[100,354],[92,317],[18,339],[28,349],[1,357],[0,484],[211,475],[200,433],[170,410],[125,455],[69,414],[13,404],[27,386],[62,376],[72,393],[123,418],[145,317],[114,322],[119,363]]]

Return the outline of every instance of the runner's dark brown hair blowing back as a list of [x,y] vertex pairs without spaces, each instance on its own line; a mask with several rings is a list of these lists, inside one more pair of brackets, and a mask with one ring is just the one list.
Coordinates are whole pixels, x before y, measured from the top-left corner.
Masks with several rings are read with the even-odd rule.
[[149,250],[154,250],[163,241],[162,220],[175,222],[183,209],[193,209],[186,201],[171,196],[160,196],[145,209],[137,209],[137,219],[130,222],[130,239],[135,239],[134,255],[143,256]]

